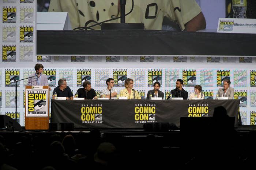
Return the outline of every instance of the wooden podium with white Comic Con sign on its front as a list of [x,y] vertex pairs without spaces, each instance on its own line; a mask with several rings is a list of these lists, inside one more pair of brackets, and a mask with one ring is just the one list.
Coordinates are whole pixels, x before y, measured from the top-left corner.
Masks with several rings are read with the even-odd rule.
[[49,86],[26,86],[25,129],[49,130]]

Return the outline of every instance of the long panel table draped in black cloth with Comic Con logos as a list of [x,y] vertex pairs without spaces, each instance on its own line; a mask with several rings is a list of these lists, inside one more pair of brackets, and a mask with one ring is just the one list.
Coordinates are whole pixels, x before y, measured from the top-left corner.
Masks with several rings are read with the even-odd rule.
[[180,126],[182,116],[212,116],[223,106],[238,123],[240,100],[52,100],[51,122],[75,128],[143,128],[144,123]]

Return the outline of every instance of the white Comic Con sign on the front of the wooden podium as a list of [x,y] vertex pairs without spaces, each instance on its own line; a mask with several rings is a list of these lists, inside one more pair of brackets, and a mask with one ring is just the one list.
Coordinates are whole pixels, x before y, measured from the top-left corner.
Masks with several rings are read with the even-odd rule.
[[46,90],[29,90],[27,93],[27,116],[47,116]]

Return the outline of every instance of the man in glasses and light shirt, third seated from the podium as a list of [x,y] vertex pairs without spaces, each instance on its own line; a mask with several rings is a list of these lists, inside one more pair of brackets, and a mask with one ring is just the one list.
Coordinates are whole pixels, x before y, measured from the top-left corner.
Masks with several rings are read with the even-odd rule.
[[110,94],[111,94],[111,99],[116,99],[117,96],[117,90],[114,89],[114,79],[113,78],[108,78],[106,80],[106,84],[107,84],[107,88],[102,89],[101,91],[101,98],[104,97],[105,98],[109,98],[110,99]]

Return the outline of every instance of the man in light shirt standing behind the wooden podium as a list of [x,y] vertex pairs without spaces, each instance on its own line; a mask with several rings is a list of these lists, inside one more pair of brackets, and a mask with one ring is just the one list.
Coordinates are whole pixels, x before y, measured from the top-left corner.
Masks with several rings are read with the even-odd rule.
[[[44,66],[42,64],[35,64],[35,73],[29,75],[27,86],[49,86],[48,78],[43,74]],[[52,88],[49,87],[49,90]]]

